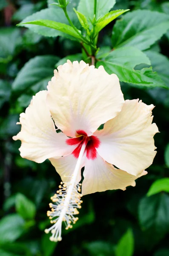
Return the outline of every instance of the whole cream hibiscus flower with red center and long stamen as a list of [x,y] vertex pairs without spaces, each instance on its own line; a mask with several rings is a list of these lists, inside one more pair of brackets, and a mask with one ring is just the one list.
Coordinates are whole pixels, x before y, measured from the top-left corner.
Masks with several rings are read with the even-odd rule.
[[82,195],[125,190],[146,175],[158,132],[152,124],[154,106],[124,101],[119,79],[103,66],[68,60],[57,70],[48,90],[33,96],[20,114],[21,131],[13,137],[21,140],[21,157],[37,163],[49,159],[62,179],[47,212],[53,226],[45,232],[52,232],[52,241],[61,240],[62,222],[68,229],[77,221]]

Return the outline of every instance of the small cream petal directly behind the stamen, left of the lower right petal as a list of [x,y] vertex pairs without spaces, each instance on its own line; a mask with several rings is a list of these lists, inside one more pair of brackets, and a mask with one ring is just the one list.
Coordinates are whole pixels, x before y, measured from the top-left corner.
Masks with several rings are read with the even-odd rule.
[[[60,175],[63,182],[69,182],[72,178],[77,158],[74,157],[73,154],[69,154],[66,157],[52,157],[49,158],[52,165],[56,169],[57,173]],[[84,159],[81,164],[81,168],[84,166]],[[79,171],[79,174],[77,175],[76,182],[79,183],[81,180],[81,169]]]

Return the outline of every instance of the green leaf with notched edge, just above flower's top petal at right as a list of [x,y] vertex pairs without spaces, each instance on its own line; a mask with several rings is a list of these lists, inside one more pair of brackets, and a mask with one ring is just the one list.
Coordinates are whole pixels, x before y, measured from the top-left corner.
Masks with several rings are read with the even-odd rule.
[[98,61],[97,67],[103,65],[109,73],[115,73],[120,81],[146,87],[166,87],[156,72],[152,68],[134,70],[138,64],[150,64],[149,58],[134,47],[123,47],[110,52],[104,61]]

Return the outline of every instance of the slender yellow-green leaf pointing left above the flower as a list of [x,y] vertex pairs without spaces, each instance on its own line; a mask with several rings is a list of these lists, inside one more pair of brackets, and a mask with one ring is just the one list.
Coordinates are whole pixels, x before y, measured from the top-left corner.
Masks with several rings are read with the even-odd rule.
[[[58,31],[71,35],[74,38],[80,39],[80,35],[78,35],[77,32],[74,31],[72,26],[66,25],[64,23],[60,23],[52,20],[33,20],[33,21],[19,23],[18,26],[24,26],[26,24],[45,26],[50,29],[56,29]],[[80,30],[79,30],[79,33],[81,33]]]

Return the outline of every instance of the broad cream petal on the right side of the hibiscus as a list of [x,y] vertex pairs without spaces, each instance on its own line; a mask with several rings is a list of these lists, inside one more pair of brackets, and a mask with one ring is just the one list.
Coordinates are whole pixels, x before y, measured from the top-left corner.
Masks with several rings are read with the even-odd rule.
[[153,136],[158,132],[152,124],[153,108],[136,99],[126,100],[121,112],[95,133],[100,156],[135,176],[148,168],[156,154]]

